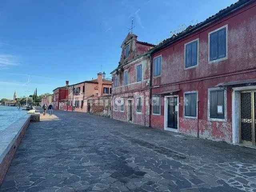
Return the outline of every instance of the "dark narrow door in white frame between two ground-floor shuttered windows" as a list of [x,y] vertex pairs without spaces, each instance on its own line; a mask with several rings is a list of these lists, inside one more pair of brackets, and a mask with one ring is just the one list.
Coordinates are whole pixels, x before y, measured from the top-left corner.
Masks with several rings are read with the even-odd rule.
[[178,129],[178,97],[168,97],[167,127]]

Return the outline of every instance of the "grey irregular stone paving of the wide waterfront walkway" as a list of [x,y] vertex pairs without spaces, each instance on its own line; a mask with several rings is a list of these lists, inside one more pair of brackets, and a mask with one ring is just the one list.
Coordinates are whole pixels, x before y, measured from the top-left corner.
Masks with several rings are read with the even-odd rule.
[[256,192],[256,150],[79,112],[30,124],[0,192]]

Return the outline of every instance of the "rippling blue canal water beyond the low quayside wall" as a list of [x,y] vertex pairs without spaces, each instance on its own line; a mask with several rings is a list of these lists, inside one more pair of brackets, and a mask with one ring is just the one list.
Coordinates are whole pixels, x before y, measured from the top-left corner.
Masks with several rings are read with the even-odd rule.
[[26,110],[0,105],[0,133],[26,114]]

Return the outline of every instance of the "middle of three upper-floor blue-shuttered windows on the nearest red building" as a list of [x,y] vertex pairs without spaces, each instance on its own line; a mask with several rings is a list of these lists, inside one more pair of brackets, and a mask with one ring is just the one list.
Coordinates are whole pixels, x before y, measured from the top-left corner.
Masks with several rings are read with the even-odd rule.
[[197,65],[198,40],[186,44],[185,46],[185,68]]

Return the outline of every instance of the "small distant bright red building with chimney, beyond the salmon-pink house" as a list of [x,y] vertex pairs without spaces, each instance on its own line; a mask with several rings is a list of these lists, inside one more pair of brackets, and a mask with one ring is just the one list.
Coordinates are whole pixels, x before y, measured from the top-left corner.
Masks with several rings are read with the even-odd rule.
[[68,101],[68,81],[66,86],[58,87],[53,90],[53,107],[54,110],[58,110],[60,106]]

